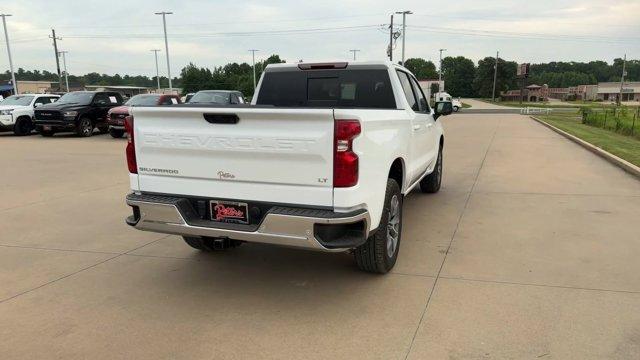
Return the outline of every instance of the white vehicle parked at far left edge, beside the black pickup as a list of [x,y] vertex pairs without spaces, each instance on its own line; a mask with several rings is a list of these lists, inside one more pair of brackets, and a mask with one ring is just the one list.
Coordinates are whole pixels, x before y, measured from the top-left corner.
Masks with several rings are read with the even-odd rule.
[[12,95],[0,101],[0,131],[28,135],[34,129],[34,109],[58,100],[54,94]]

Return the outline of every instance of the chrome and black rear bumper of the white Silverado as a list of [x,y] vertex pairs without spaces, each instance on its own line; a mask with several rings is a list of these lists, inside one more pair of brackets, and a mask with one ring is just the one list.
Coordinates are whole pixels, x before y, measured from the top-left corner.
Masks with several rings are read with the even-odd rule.
[[358,247],[369,236],[368,211],[349,213],[274,206],[253,229],[201,220],[182,198],[129,194],[133,215],[126,222],[138,230],[182,236],[229,238],[320,251]]

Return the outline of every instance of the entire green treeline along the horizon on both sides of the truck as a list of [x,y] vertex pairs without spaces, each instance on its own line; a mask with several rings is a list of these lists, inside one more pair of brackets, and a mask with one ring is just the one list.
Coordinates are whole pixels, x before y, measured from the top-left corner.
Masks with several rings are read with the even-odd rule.
[[[282,63],[284,60],[278,55],[271,55],[264,61],[256,63],[256,78],[268,64]],[[464,56],[448,56],[442,60],[442,77],[445,89],[453,96],[462,97],[491,97],[493,91],[493,69],[495,58],[486,57],[475,63]],[[418,79],[437,79],[436,65],[422,58],[407,59],[406,67]],[[496,94],[501,91],[517,89],[517,63],[499,59],[496,81]],[[569,87],[584,84],[597,84],[602,81],[620,81],[622,73],[622,59],[615,59],[613,64],[605,61],[590,62],[550,62],[531,64],[529,84],[549,87]],[[627,60],[628,81],[640,81],[640,60]],[[9,80],[9,71],[0,74],[0,81]],[[58,81],[58,75],[47,70],[26,71],[22,68],[16,73],[18,80],[47,80]],[[161,77],[161,86],[166,87],[166,77]],[[155,87],[156,78],[148,76],[107,75],[92,72],[82,76],[69,75],[71,87],[84,85],[131,85]],[[224,66],[198,67],[189,64],[182,69],[180,77],[173,79],[173,86],[182,88],[183,93],[195,92],[203,89],[240,90],[245,95],[253,95],[253,68],[247,63],[229,63]]]

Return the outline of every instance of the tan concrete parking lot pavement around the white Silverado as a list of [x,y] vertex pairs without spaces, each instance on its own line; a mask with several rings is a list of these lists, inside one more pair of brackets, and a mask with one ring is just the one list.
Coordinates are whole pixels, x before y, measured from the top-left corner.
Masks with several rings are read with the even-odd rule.
[[640,181],[520,115],[453,115],[393,273],[129,229],[124,140],[0,135],[0,354],[638,359]]

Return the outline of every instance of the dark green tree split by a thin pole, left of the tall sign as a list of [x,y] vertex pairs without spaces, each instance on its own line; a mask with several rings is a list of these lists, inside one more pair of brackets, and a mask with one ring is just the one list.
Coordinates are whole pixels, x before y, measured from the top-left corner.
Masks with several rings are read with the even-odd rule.
[[[493,94],[493,74],[496,58],[486,57],[478,61],[476,77],[473,87],[476,95],[482,98],[490,98]],[[498,73],[496,77],[496,97],[501,91],[517,89],[516,70],[518,64],[514,61],[505,61],[498,58]]]

